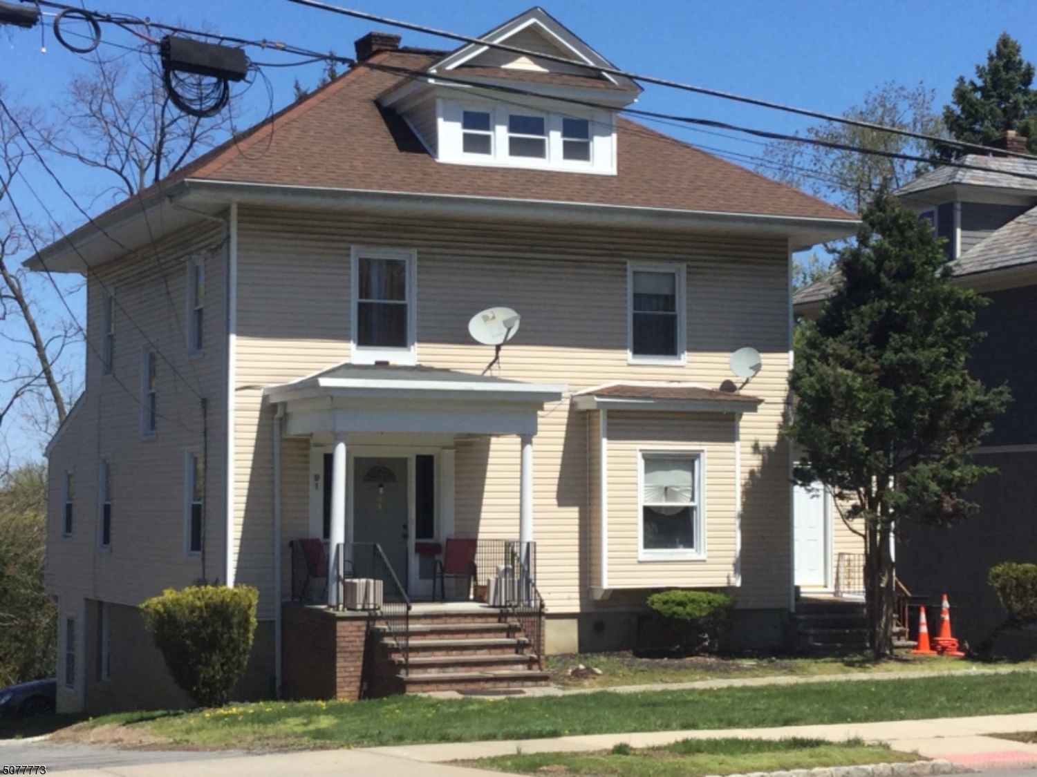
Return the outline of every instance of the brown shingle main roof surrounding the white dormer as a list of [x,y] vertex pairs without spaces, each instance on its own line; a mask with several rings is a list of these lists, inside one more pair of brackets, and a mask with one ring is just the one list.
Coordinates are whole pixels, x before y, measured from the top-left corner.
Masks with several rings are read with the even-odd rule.
[[[369,61],[424,69],[435,57],[397,51]],[[358,66],[163,185],[193,178],[856,221],[842,208],[622,117],[617,175],[440,164],[399,116],[375,102],[403,78]]]

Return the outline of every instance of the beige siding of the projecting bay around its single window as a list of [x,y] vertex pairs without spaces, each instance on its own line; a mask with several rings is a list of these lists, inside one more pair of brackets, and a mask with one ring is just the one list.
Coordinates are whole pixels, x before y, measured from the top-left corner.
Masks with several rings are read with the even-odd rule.
[[[610,411],[608,419],[609,585],[616,588],[716,587],[734,582],[734,419]],[[703,454],[705,558],[638,560],[638,472],[643,452]]]

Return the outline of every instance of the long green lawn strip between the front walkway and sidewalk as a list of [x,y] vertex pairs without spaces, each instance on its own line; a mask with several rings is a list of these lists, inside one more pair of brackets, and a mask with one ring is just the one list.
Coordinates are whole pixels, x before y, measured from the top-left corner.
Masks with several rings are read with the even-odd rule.
[[[1037,711],[1037,673],[562,697],[261,702],[99,718],[170,744],[337,747],[907,720]],[[141,722],[135,722],[141,721]]]

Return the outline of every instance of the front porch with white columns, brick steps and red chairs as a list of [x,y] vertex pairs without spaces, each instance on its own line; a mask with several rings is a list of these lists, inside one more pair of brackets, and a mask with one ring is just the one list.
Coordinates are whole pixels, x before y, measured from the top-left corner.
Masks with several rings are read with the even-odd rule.
[[[544,403],[564,390],[348,364],[264,390],[276,410],[275,482],[291,491],[296,511],[286,527],[275,494],[278,553],[289,556],[278,566],[290,570],[288,596],[278,596],[287,600],[278,613],[286,695],[544,681],[533,438]],[[458,483],[478,488],[487,471],[472,452],[482,444],[488,456],[489,441],[501,437],[517,437],[517,488],[493,513],[463,519]],[[495,450],[509,448],[505,439]],[[516,539],[489,539],[511,531]]]

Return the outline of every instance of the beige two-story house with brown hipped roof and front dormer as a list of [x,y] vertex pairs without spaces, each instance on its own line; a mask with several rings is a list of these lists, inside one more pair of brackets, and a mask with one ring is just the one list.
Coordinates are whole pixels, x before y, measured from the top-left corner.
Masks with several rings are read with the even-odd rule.
[[[137,605],[199,580],[260,592],[243,697],[364,692],[391,594],[415,636],[454,616],[441,644],[530,605],[534,661],[629,646],[674,586],[730,591],[741,644],[788,636],[789,257],[856,217],[624,118],[638,85],[541,9],[484,40],[372,33],[31,259],[88,294],[86,388],[48,452],[60,710],[183,703]],[[494,307],[521,322],[486,371],[469,323]],[[433,587],[455,539],[477,579]],[[358,571],[384,584],[370,620],[339,610]],[[444,687],[410,644],[407,687]],[[446,687],[515,674],[486,655]]]

